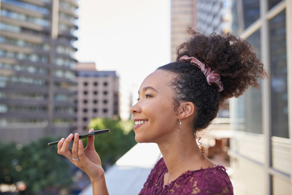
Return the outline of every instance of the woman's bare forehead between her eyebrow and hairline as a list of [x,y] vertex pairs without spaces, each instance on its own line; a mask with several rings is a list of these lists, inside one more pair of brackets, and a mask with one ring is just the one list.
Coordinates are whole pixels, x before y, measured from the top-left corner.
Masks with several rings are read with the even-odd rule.
[[164,91],[164,89],[169,90],[170,86],[170,79],[172,77],[172,74],[167,71],[163,70],[156,70],[152,72],[150,75],[148,75],[144,81],[142,82],[139,92],[143,90],[144,87],[153,87],[156,90]]

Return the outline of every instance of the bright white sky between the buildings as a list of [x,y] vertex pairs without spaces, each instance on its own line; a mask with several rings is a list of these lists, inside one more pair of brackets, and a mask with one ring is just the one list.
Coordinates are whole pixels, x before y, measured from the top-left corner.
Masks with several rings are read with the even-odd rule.
[[76,59],[116,70],[120,92],[137,91],[144,78],[170,62],[170,0],[79,0]]

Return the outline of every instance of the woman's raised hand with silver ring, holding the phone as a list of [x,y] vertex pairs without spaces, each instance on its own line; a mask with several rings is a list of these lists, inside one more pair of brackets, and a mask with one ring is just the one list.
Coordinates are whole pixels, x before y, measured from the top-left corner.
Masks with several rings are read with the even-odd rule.
[[[89,132],[94,131],[90,129]],[[96,181],[104,178],[104,170],[101,166],[99,155],[94,148],[94,135],[88,137],[86,148],[83,149],[83,143],[79,140],[78,133],[74,135],[72,149],[68,149],[70,142],[73,139],[73,134],[70,134],[66,139],[62,138],[58,143],[58,154],[64,155],[74,165],[83,170],[91,179]],[[73,160],[73,158],[78,160]]]

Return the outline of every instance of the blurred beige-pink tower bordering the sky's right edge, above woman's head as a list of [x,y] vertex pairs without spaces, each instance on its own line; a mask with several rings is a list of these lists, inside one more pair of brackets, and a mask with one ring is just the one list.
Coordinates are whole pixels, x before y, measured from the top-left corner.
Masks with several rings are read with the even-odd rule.
[[186,27],[196,29],[196,2],[171,0],[171,61],[176,61],[176,47],[189,36]]

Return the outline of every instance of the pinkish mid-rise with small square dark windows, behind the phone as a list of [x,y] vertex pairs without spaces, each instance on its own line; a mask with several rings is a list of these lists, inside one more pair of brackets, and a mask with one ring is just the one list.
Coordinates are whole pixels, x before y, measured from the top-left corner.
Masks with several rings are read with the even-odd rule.
[[87,133],[92,118],[119,115],[119,78],[116,71],[97,71],[95,63],[76,63],[75,70],[75,126],[79,133]]

